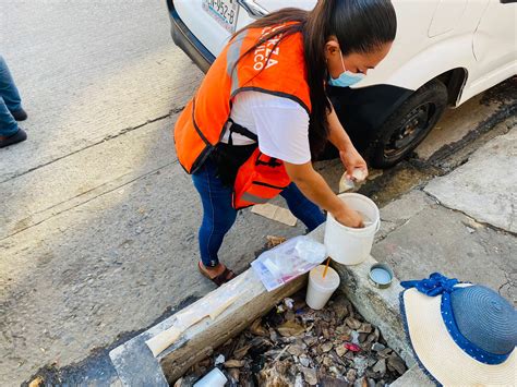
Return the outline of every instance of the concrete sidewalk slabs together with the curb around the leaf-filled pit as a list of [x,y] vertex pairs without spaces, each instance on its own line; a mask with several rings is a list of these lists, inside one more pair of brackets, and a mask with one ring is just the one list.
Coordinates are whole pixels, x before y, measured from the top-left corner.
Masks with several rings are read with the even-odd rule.
[[[383,229],[377,235],[373,255],[392,264],[398,279],[422,278],[441,271],[486,285],[515,303],[517,265],[513,257],[517,250],[514,225],[517,201],[513,189],[517,186],[517,177],[507,171],[517,168],[516,123],[515,118],[504,121],[502,124],[507,133],[489,141],[464,166],[434,178],[425,186],[414,189],[382,208]],[[324,226],[313,231],[311,237],[323,242],[323,234]],[[370,257],[360,265],[336,265],[341,277],[341,291],[369,322],[382,330],[388,346],[410,367],[395,385],[432,386],[416,364],[406,341],[398,304],[401,287],[398,280],[389,289],[372,287],[368,281],[372,263],[375,261]],[[289,288],[304,286],[300,283],[301,279],[284,287],[284,294],[293,291]],[[196,325],[183,335],[182,341],[169,347],[157,359],[144,341],[169,328],[175,316],[112,350],[111,361],[122,384],[132,386],[159,379],[155,384],[161,386],[167,385],[165,378],[173,383],[192,364],[212,355],[228,337],[238,334],[281,299],[266,292],[251,269],[233,281],[240,283],[243,299],[230,306],[226,321]],[[217,291],[224,293],[221,289]],[[213,293],[208,297],[215,298]],[[194,305],[192,307],[195,310]]]

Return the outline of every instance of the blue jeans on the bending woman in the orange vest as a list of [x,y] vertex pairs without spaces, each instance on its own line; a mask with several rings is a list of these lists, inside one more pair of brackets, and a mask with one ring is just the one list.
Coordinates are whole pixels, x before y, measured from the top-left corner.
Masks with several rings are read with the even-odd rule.
[[[203,265],[209,267],[219,263],[217,253],[237,217],[237,210],[231,205],[232,188],[224,185],[216,174],[216,166],[211,159],[192,174],[203,204],[203,221],[199,233],[201,261]],[[291,213],[306,226],[309,231],[325,221],[322,210],[303,196],[294,183],[285,189],[280,195],[286,199]]]

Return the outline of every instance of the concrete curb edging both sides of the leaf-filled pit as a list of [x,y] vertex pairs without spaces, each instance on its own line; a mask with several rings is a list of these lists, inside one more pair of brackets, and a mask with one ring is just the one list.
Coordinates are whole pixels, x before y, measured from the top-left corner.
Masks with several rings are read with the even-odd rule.
[[[324,225],[309,235],[323,242]],[[359,313],[372,324],[376,325],[388,346],[392,347],[406,364],[411,368],[411,374],[402,380],[404,385],[413,385],[420,378],[426,379],[421,374],[412,358],[409,343],[406,341],[399,313],[398,294],[402,290],[399,281],[394,282],[388,289],[377,289],[368,280],[370,266],[376,261],[369,257],[364,263],[356,266],[334,264],[334,268],[341,277],[340,290],[349,298]],[[157,358],[147,348],[145,341],[157,334],[168,329],[175,323],[176,314],[157,324],[137,337],[129,340],[110,352],[111,361],[117,370],[120,380],[124,386],[154,385],[167,386],[179,378],[184,372],[213,353],[214,349],[223,344],[230,337],[238,335],[255,318],[264,315],[284,298],[294,293],[305,286],[308,276],[304,275],[289,282],[280,289],[267,292],[252,269],[248,269],[228,283],[239,283],[239,299],[230,305],[215,321],[205,318],[189,328],[172,346]],[[225,287],[218,288],[205,298],[225,293]],[[204,299],[205,299],[204,298]],[[184,311],[194,311],[202,305],[203,299],[185,307]],[[206,311],[205,311],[206,312]],[[178,312],[180,313],[180,312]],[[413,376],[411,376],[413,375]],[[400,386],[400,384],[398,384]]]

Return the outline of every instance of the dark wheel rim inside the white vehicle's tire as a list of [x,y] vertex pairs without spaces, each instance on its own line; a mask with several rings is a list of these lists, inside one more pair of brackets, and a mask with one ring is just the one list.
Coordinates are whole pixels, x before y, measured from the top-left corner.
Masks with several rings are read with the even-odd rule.
[[402,123],[384,146],[384,156],[394,159],[405,154],[414,142],[420,141],[431,129],[435,112],[436,106],[433,102],[425,102],[406,114]]

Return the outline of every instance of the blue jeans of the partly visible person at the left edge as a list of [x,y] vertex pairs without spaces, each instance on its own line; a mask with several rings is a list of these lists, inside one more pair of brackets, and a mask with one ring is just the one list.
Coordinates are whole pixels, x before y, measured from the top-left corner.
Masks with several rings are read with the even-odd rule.
[[0,56],[0,135],[10,136],[17,132],[17,123],[11,114],[22,109],[22,98],[14,85],[8,64]]

